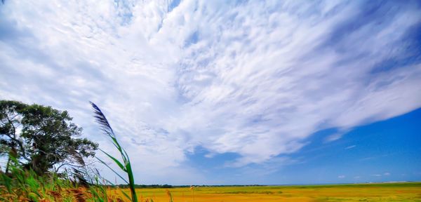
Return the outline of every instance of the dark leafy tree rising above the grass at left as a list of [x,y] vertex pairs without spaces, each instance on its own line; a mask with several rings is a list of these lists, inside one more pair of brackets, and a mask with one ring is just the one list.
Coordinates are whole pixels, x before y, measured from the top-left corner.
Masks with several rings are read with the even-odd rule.
[[9,152],[6,172],[10,158],[18,159],[24,168],[39,175],[54,166],[83,166],[83,158],[94,156],[98,144],[76,138],[82,128],[71,121],[66,111],[1,100],[0,145]]

